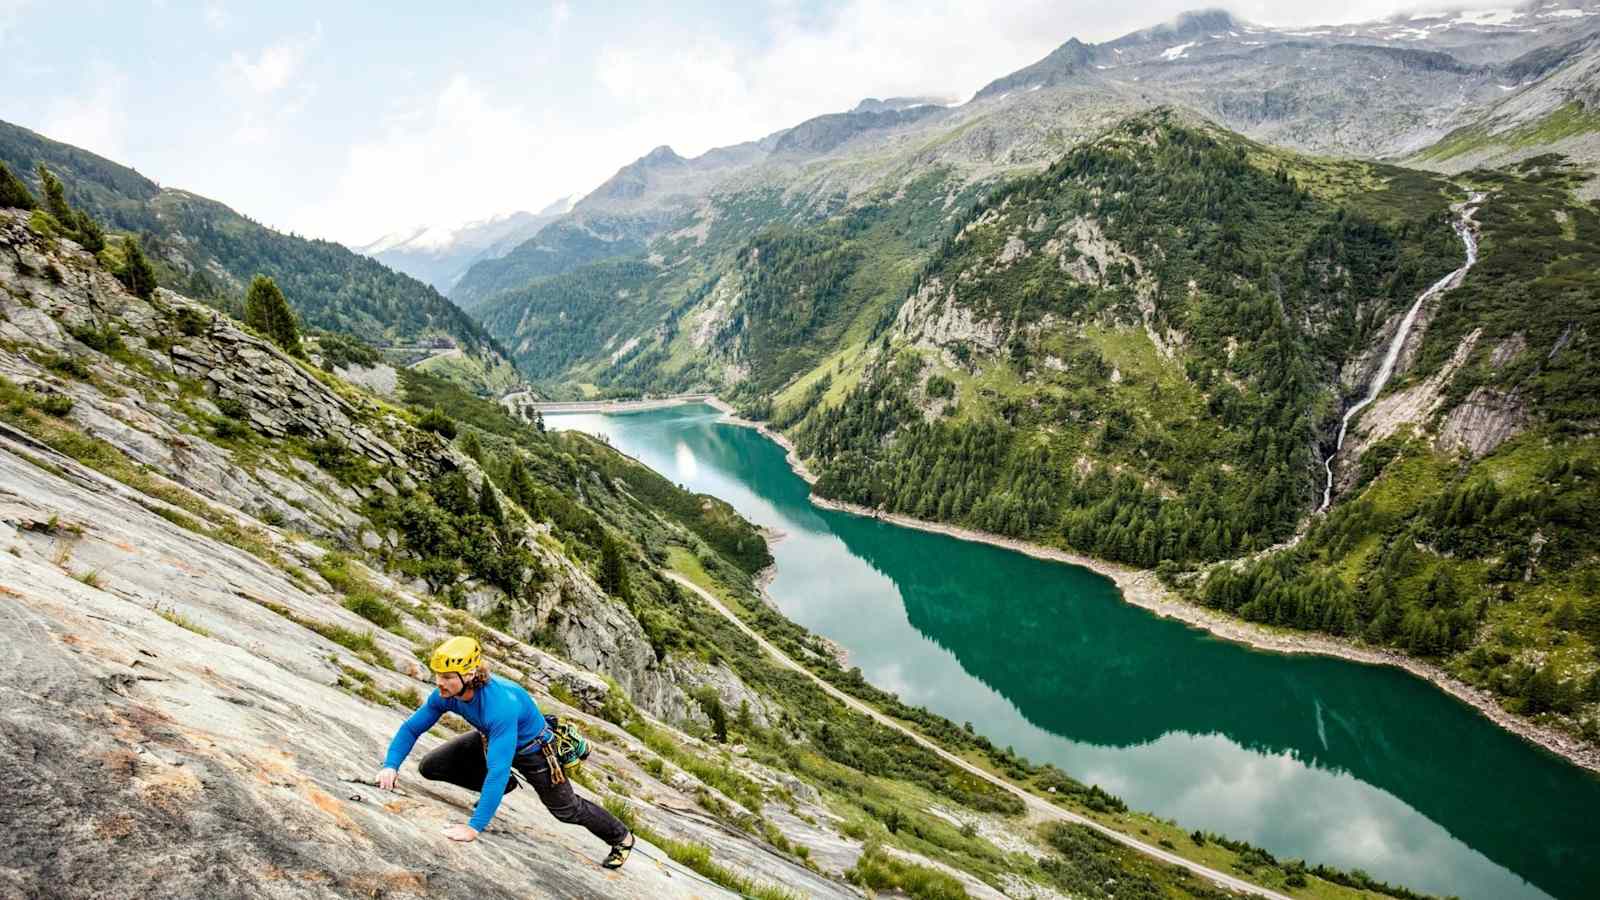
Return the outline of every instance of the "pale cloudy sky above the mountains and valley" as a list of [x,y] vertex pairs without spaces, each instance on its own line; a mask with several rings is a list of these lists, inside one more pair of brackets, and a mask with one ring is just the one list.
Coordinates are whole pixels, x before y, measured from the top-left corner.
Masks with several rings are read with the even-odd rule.
[[[1229,8],[1304,26],[1419,5]],[[1069,37],[1203,3],[446,6],[0,0],[0,119],[275,227],[363,243],[538,210],[659,144],[696,155],[866,96],[966,99]]]

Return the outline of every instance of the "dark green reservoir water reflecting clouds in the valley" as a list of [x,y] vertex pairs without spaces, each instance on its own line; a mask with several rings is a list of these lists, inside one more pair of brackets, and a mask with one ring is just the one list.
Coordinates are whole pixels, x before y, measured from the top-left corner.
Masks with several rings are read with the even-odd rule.
[[1600,778],[1398,669],[1266,653],[1080,567],[819,509],[710,407],[550,415],[778,528],[784,615],[878,687],[1133,809],[1474,900],[1600,897]]

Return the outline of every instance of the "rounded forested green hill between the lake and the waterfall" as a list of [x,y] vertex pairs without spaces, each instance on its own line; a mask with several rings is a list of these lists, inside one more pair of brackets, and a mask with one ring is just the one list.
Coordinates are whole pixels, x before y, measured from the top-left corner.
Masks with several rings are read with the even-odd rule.
[[1288,536],[1338,364],[1459,264],[1443,183],[1296,162],[1152,115],[994,192],[798,426],[818,490],[1138,565]]

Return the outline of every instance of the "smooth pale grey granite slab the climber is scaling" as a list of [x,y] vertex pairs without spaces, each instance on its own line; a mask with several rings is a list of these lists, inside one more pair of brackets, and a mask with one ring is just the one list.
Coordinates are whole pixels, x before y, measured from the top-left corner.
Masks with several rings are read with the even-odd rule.
[[[475,844],[445,839],[440,828],[469,818],[474,796],[416,773],[440,738],[419,741],[400,793],[376,790],[370,781],[408,709],[339,687],[358,671],[378,690],[426,690],[406,642],[374,633],[381,655],[405,669],[395,671],[291,625],[266,604],[365,626],[338,597],[173,525],[147,501],[0,434],[0,650],[32,685],[0,690],[8,822],[29,833],[0,849],[0,895],[734,897],[648,842],[621,873],[600,868],[605,847],[528,791],[509,794]],[[278,549],[291,565],[320,552],[291,541]],[[856,895],[691,814],[704,785],[682,772],[678,786],[653,780],[630,759],[646,748],[544,697],[549,679],[582,679],[568,663],[509,639],[494,653],[498,673],[534,685],[541,703],[584,727],[590,765],[603,783],[632,783],[627,802],[651,828],[709,844],[757,881],[806,897]],[[840,839],[826,836],[850,857],[848,842],[832,847]]]

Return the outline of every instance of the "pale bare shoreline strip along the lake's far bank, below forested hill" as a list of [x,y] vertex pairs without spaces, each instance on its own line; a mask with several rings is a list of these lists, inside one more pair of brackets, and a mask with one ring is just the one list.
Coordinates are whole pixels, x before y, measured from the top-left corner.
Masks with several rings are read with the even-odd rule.
[[[723,420],[728,424],[736,424],[741,428],[754,428],[763,436],[770,437],[779,447],[784,448],[789,466],[797,476],[805,479],[808,485],[816,484],[816,476],[806,469],[805,463],[800,461],[800,455],[795,450],[792,440],[778,434],[763,423],[750,421],[734,415],[733,407],[720,399],[704,400],[707,405],[720,410]],[[1352,663],[1374,665],[1374,666],[1394,666],[1405,669],[1406,673],[1421,677],[1432,684],[1434,687],[1443,690],[1450,697],[1466,703],[1477,709],[1478,714],[1490,719],[1501,729],[1526,740],[1528,743],[1538,745],[1539,748],[1560,756],[1562,759],[1586,769],[1589,772],[1600,773],[1600,748],[1589,746],[1581,740],[1558,732],[1555,729],[1538,725],[1530,722],[1514,713],[1507,713],[1501,708],[1499,701],[1486,690],[1474,687],[1448,671],[1434,663],[1416,660],[1394,650],[1365,647],[1350,641],[1342,641],[1326,634],[1312,633],[1278,633],[1267,629],[1253,621],[1245,621],[1216,610],[1190,604],[1178,597],[1155,577],[1155,572],[1146,569],[1133,569],[1117,562],[1107,562],[1104,559],[1094,559],[1090,556],[1075,554],[1059,548],[1022,541],[1016,538],[1008,538],[1005,535],[995,535],[990,532],[981,532],[976,528],[963,528],[960,525],[947,525],[942,522],[930,522],[925,519],[914,519],[910,516],[902,516],[899,512],[882,512],[878,509],[870,509],[854,503],[840,503],[837,500],[827,500],[818,496],[816,493],[808,495],[813,506],[822,509],[832,509],[837,512],[848,512],[851,516],[864,516],[870,519],[878,519],[899,525],[902,528],[915,528],[918,532],[931,532],[938,535],[946,535],[950,538],[984,543],[997,546],[1002,549],[1010,549],[1014,552],[1022,552],[1035,559],[1046,559],[1051,562],[1064,562],[1069,565],[1078,565],[1110,578],[1123,602],[1133,604],[1136,607],[1146,609],[1162,618],[1174,618],[1189,625],[1190,628],[1203,629],[1224,641],[1232,641],[1235,644],[1245,644],[1254,650],[1267,650],[1274,653],[1314,653],[1322,657],[1336,657]],[[776,564],[768,567],[774,570]],[[765,573],[766,570],[763,570]],[[766,585],[771,578],[763,580],[758,586],[762,594],[766,594]],[[771,599],[768,599],[771,602]]]

